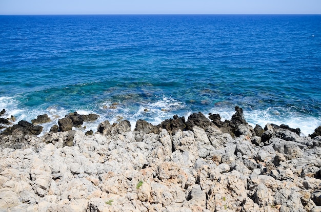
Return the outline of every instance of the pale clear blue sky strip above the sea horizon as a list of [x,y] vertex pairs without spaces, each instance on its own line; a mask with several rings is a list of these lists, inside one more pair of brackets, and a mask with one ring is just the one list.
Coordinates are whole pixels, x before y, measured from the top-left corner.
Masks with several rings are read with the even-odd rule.
[[0,0],[0,14],[321,14],[321,0]]

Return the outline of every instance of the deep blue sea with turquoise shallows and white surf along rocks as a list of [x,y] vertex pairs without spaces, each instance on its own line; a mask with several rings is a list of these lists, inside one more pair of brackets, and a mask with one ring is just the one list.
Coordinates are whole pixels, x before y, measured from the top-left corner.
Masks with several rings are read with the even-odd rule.
[[321,15],[0,15],[0,110],[321,125]]

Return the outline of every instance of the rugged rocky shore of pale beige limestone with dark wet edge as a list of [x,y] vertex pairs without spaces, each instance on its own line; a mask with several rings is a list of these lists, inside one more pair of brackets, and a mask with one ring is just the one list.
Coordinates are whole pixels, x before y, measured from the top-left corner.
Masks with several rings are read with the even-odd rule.
[[321,126],[252,128],[238,107],[209,118],[84,133],[97,115],[75,112],[40,137],[46,114],[0,118],[0,211],[321,211]]

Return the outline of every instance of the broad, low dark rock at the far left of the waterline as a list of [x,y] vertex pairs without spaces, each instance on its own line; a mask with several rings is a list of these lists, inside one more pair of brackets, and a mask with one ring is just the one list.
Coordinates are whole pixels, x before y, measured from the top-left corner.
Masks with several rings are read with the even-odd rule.
[[34,126],[32,123],[28,121],[22,120],[19,121],[18,124],[14,124],[7,128],[2,134],[3,135],[11,135],[14,131],[21,131],[23,134],[31,134],[31,135],[39,135],[43,131],[42,126]]

